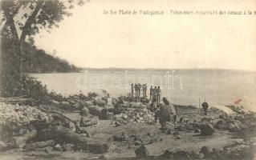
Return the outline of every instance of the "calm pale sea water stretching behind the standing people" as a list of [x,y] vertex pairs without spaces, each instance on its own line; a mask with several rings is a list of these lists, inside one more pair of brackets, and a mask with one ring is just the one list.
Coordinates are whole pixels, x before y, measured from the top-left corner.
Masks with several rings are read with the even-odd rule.
[[[161,86],[161,94],[176,104],[198,106],[206,100],[213,105],[230,105],[239,99],[241,105],[256,109],[256,72],[234,70],[162,70],[162,71],[87,71],[68,74],[30,74],[46,84],[49,90],[64,95],[82,92],[112,97],[131,92],[130,84]],[[255,109],[254,109],[255,108]]]

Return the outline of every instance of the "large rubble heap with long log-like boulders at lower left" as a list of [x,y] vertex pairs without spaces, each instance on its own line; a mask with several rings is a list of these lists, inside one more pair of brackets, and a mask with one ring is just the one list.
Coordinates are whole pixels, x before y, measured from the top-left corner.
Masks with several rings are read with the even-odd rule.
[[[108,152],[108,143],[87,138],[90,134],[85,126],[97,122],[94,116],[81,118],[80,122],[55,110],[43,106],[19,106],[0,103],[0,151],[14,148],[24,150],[55,149],[75,146],[76,150],[85,150],[95,154]],[[80,123],[83,125],[80,125]],[[73,130],[74,129],[74,130]],[[71,144],[71,145],[67,145]]]

